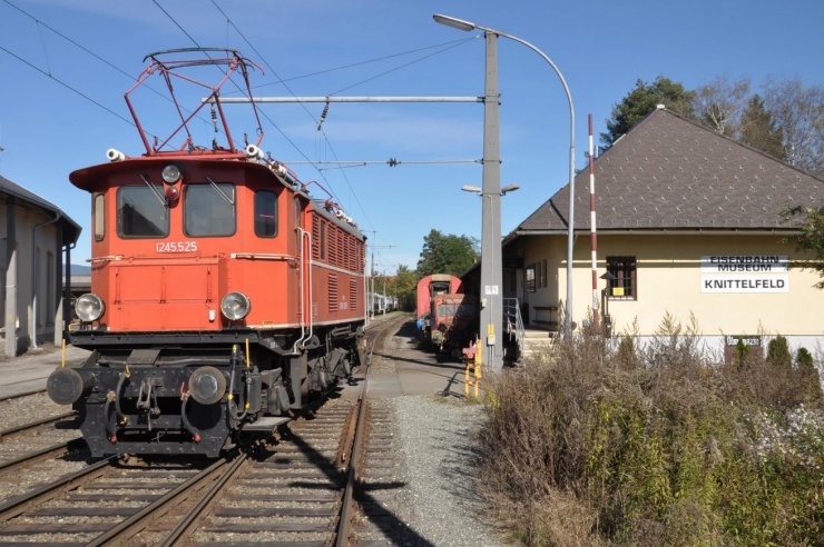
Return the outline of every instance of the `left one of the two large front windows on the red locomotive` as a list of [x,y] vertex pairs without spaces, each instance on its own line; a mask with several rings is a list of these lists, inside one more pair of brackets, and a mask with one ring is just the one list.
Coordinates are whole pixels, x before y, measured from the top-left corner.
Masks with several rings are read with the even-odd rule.
[[125,186],[117,192],[118,233],[124,238],[169,235],[169,210],[160,185]]

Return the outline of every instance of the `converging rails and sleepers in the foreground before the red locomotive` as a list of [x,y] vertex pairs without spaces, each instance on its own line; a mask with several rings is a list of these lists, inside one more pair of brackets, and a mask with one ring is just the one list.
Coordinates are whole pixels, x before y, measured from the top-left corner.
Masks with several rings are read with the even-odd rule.
[[[373,324],[364,362],[396,320]],[[377,540],[396,526],[382,505],[391,479],[390,417],[339,397],[282,428],[267,445],[209,465],[104,460],[0,506],[0,544],[204,545]],[[364,425],[366,424],[366,425]],[[384,541],[385,543],[385,541]]]

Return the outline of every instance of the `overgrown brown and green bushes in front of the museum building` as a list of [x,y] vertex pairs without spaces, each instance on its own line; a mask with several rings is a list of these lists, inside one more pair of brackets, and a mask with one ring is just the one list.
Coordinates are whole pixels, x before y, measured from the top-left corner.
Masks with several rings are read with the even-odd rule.
[[759,352],[710,366],[696,331],[667,317],[642,348],[563,337],[551,359],[491,378],[481,488],[513,539],[824,545],[822,414],[793,367]]

